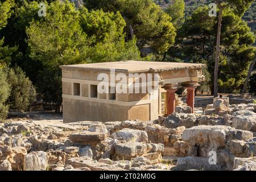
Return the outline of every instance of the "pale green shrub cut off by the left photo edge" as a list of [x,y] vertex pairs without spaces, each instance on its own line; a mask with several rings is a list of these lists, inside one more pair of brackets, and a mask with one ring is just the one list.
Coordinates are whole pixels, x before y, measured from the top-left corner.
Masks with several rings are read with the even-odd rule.
[[0,120],[5,119],[8,114],[8,106],[6,100],[10,95],[10,85],[7,82],[7,75],[0,68]]

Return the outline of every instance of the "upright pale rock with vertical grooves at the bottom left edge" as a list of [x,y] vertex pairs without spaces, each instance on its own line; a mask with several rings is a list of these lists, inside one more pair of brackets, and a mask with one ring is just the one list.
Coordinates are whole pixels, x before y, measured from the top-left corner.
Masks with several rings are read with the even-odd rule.
[[24,158],[25,171],[46,170],[48,166],[48,156],[46,152],[38,151],[27,154]]

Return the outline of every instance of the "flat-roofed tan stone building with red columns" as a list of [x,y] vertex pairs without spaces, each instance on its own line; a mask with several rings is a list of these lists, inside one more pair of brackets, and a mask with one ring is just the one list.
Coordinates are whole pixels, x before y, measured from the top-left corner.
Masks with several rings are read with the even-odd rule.
[[[152,61],[118,61],[60,66],[63,82],[64,122],[157,119],[163,114],[161,107],[164,98],[166,98],[165,114],[174,112],[175,91],[180,83],[187,88],[187,104],[192,107],[193,112],[195,88],[204,78],[202,67],[203,64]],[[109,82],[109,92],[99,92],[97,85],[102,83],[102,79],[99,79],[102,78],[102,73],[109,78],[104,80]],[[147,83],[152,77],[153,86],[152,89],[147,88],[147,92],[143,93],[141,92],[143,88],[148,86],[143,84],[142,80],[145,77]],[[130,89],[138,83],[137,81],[140,87],[139,93],[135,92],[136,87]],[[121,87],[120,82],[124,84]],[[127,90],[127,92],[120,93],[117,88]],[[166,97],[163,97],[163,94]]]

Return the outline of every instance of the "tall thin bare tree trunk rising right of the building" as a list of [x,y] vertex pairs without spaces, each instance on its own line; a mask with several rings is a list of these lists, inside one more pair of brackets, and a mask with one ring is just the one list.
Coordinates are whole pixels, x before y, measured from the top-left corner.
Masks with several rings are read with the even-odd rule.
[[216,42],[216,55],[215,55],[215,65],[214,65],[214,97],[218,96],[218,63],[220,61],[220,37],[221,37],[221,22],[222,22],[222,7],[218,12],[218,31],[217,31],[217,42]]

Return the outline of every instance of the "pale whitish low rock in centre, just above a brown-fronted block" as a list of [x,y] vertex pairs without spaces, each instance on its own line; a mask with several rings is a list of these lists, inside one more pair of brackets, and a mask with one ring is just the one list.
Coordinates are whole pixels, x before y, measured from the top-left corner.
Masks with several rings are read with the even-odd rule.
[[142,130],[122,129],[112,134],[112,137],[126,142],[148,142],[147,133]]

